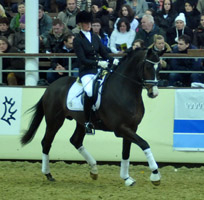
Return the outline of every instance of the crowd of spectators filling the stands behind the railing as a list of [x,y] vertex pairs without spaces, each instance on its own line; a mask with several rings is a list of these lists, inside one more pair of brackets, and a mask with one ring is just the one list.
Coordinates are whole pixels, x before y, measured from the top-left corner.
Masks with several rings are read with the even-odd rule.
[[[39,52],[76,53],[74,40],[81,27],[77,14],[90,13],[91,32],[108,53],[123,54],[135,48],[153,48],[166,53],[187,53],[204,48],[203,0],[56,0],[56,16],[52,18],[51,0],[39,0]],[[25,52],[25,2],[12,5],[13,15],[0,1],[0,52]],[[16,10],[15,10],[16,9]],[[16,12],[16,13],[15,13]],[[24,69],[23,59],[4,58],[3,69]],[[18,66],[17,66],[18,63]],[[50,70],[66,70],[67,59],[50,59]],[[72,69],[79,68],[72,59]],[[161,59],[162,70],[201,71],[201,59]],[[48,71],[44,78],[52,83],[64,72]],[[78,74],[74,74],[78,76]],[[199,73],[161,74],[160,86],[187,86],[204,82]],[[3,73],[8,85],[24,84],[23,73]]]

